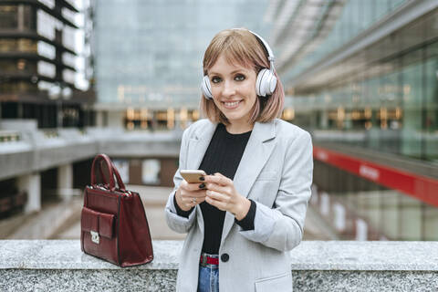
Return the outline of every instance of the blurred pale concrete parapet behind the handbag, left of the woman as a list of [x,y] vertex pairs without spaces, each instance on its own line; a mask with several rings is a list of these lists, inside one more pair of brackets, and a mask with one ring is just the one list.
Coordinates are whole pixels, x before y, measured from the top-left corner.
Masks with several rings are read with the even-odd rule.
[[[59,165],[92,159],[98,153],[110,157],[175,157],[183,130],[167,132],[124,131],[110,128],[38,130],[0,120],[0,180],[41,172]],[[23,129],[14,129],[13,126]],[[12,130],[1,130],[11,127]]]

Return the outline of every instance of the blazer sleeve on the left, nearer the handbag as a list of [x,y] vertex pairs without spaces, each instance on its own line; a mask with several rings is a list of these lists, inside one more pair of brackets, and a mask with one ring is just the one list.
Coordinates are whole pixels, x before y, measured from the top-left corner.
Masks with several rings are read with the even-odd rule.
[[[196,214],[195,211],[192,211],[192,213],[189,214],[188,218],[184,216],[180,216],[177,214],[175,205],[173,204],[173,197],[175,196],[176,190],[178,190],[178,188],[180,187],[180,183],[183,182],[183,177],[181,176],[180,170],[184,169],[186,165],[189,130],[190,128],[184,130],[183,132],[183,139],[181,141],[181,148],[180,148],[179,166],[178,166],[178,170],[175,172],[175,175],[173,175],[173,183],[175,187],[173,188],[172,193],[170,193],[166,206],[164,208],[164,212],[166,214],[166,222],[168,226],[173,231],[180,234],[184,234],[189,231],[189,229],[193,225],[195,214]],[[193,210],[194,209],[195,208],[193,208]]]

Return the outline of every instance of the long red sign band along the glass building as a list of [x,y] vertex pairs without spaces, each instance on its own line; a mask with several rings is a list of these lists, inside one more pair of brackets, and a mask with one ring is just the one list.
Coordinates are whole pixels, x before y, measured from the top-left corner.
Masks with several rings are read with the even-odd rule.
[[375,162],[368,162],[318,146],[313,147],[313,157],[318,161],[334,165],[339,169],[354,173],[401,193],[409,194],[424,203],[430,203],[438,207],[438,180],[412,172],[404,172]]

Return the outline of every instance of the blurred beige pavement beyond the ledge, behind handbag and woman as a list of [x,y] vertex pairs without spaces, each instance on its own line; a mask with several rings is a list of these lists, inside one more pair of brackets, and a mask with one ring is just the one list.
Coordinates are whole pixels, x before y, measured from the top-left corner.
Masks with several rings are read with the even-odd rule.
[[[140,193],[146,217],[148,219],[151,237],[153,240],[182,240],[185,235],[175,233],[166,224],[164,206],[172,188],[127,185],[128,190]],[[50,203],[43,206],[37,214],[21,215],[8,219],[16,222],[14,232],[1,235],[7,239],[79,239],[80,238],[80,210],[83,199],[76,196],[68,201]],[[9,222],[0,224],[10,225]],[[328,225],[318,215],[318,212],[309,205],[306,218],[304,240],[334,240],[337,239],[329,232]]]

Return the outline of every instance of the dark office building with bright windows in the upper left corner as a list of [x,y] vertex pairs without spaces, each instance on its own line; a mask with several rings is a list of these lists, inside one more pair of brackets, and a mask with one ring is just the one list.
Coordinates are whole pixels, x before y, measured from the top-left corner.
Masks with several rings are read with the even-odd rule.
[[38,128],[93,124],[94,94],[77,82],[78,13],[66,0],[0,1],[2,119],[33,119]]

